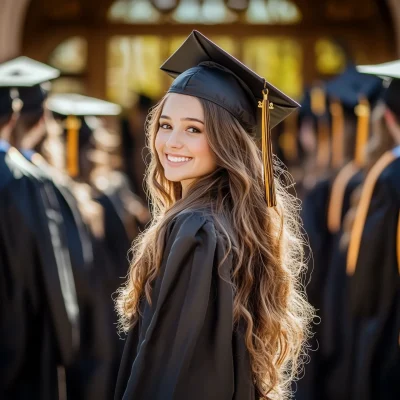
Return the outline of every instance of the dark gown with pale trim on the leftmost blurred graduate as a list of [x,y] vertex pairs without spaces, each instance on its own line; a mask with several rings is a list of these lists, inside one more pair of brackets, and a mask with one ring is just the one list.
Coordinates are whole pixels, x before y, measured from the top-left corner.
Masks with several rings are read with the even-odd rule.
[[0,171],[0,398],[53,400],[78,328],[60,214],[15,149],[0,153]]

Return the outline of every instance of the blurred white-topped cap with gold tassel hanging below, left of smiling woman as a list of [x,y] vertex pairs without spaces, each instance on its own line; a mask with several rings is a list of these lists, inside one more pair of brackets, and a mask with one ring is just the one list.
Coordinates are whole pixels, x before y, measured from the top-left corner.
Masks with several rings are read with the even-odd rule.
[[108,101],[70,93],[50,96],[47,107],[66,117],[67,170],[71,177],[76,177],[79,175],[79,147],[87,143],[92,134],[84,119],[79,117],[118,115],[121,107]]

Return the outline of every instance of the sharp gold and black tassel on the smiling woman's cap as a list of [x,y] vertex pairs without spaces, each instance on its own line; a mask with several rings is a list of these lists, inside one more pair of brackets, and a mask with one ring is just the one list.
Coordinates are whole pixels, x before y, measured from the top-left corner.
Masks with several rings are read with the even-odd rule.
[[271,140],[271,127],[270,127],[270,112],[274,109],[274,104],[268,99],[268,89],[262,91],[263,101],[258,103],[262,109],[262,159],[264,167],[264,183],[265,195],[268,207],[276,206],[275,182],[274,182],[274,167],[272,158],[272,140]]

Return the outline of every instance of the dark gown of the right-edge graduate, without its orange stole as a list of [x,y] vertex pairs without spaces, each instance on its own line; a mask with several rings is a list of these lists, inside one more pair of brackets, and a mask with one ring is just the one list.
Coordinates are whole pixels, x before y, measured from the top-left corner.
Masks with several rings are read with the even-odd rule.
[[400,398],[399,175],[397,158],[375,184],[349,279],[355,343],[351,399]]

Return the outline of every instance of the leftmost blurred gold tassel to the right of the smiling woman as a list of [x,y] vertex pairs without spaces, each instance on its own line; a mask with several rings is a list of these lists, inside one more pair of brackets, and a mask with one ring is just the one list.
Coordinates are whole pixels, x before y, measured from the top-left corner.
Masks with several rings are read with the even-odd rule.
[[330,161],[329,124],[326,113],[326,97],[324,90],[316,86],[311,90],[311,111],[317,117],[317,166],[326,169]]

